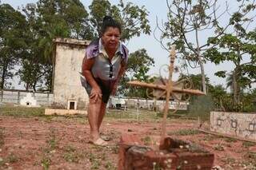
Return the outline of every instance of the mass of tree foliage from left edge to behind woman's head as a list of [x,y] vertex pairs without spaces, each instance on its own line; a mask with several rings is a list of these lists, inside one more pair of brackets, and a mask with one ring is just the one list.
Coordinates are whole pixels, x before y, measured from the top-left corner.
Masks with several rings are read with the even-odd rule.
[[105,15],[112,15],[122,24],[122,40],[142,32],[150,34],[148,12],[144,6],[107,0],[92,1],[88,12],[79,0],[38,0],[22,7],[22,13],[8,4],[0,6],[0,73],[1,86],[14,76],[14,65],[21,66],[15,75],[26,90],[51,91],[54,38],[93,40],[100,36]]

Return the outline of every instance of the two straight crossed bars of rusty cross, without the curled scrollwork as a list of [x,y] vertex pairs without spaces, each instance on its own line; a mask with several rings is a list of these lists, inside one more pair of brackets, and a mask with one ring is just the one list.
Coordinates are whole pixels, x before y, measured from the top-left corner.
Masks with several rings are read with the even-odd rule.
[[149,88],[149,89],[160,89],[162,91],[166,91],[166,93],[165,93],[166,94],[166,105],[165,105],[163,119],[162,119],[160,148],[161,148],[161,145],[163,144],[164,139],[166,138],[166,118],[167,118],[167,113],[169,110],[170,96],[173,93],[186,93],[186,94],[192,94],[192,95],[204,95],[205,94],[205,93],[202,93],[198,89],[182,89],[182,88],[175,87],[173,85],[172,77],[173,77],[173,73],[174,73],[175,56],[176,56],[175,45],[172,45],[172,48],[170,50],[169,78],[168,78],[166,85],[154,85],[154,84],[140,82],[140,81],[128,82],[129,85],[141,86],[141,87]]

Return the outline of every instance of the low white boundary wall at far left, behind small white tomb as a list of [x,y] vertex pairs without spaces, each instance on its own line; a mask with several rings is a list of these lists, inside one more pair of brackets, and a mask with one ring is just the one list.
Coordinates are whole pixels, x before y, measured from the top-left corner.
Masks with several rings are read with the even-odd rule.
[[[1,90],[0,102],[3,104],[20,105],[20,101],[27,96],[30,92],[22,92],[16,90]],[[32,93],[37,105],[50,106],[54,101],[54,94],[52,93]]]

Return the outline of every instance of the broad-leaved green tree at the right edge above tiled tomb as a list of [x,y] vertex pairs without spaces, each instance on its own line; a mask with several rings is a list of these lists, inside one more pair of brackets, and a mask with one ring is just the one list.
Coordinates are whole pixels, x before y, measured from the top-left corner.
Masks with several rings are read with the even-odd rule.
[[[256,39],[255,30],[250,30],[250,23],[253,18],[246,17],[246,14],[253,12],[256,5],[249,4],[242,6],[241,12],[232,14],[230,25],[233,27],[231,33],[223,34],[219,38],[209,38],[208,42],[215,47],[208,49],[204,55],[215,64],[224,61],[231,61],[234,70],[229,74],[227,86],[233,92],[234,105],[240,103],[242,89],[256,82]],[[244,61],[246,58],[246,61]],[[219,77],[226,77],[226,70],[216,73]]]

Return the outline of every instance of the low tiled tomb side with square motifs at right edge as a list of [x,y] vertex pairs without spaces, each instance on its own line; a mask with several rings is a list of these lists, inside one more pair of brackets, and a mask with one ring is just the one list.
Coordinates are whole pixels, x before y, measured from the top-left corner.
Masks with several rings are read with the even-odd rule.
[[256,113],[210,113],[210,130],[256,140]]

